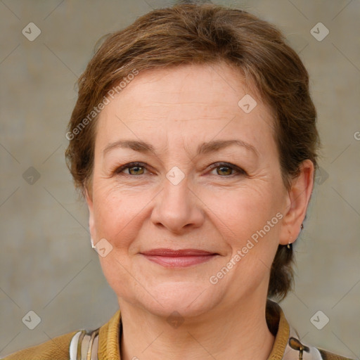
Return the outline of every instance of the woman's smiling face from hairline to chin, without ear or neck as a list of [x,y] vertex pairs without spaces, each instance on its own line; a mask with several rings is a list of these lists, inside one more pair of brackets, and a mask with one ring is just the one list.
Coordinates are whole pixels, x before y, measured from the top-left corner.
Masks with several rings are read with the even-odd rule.
[[273,124],[223,64],[141,72],[105,106],[86,200],[120,307],[196,315],[266,297],[288,243]]

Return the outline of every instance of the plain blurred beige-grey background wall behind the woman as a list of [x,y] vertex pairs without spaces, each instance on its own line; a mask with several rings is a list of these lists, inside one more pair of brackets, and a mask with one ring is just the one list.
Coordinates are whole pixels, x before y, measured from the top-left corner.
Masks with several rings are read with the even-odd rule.
[[[354,134],[360,131],[360,2],[214,2],[278,25],[309,69],[323,176],[295,248],[295,293],[283,308],[305,343],[359,359],[360,141]],[[65,167],[65,127],[75,80],[96,41],[168,4],[0,1],[0,356],[96,328],[117,310],[90,247],[87,209]],[[22,34],[31,22],[41,30],[34,41]],[[319,22],[330,31],[322,41],[310,33]],[[23,178],[29,167],[40,176],[34,184]],[[34,330],[22,322],[30,310],[41,318]],[[310,321],[319,310],[330,319],[322,330]]]

